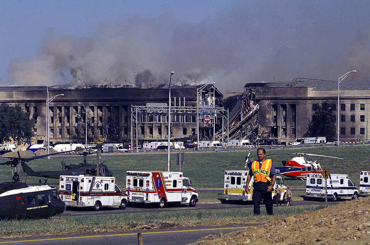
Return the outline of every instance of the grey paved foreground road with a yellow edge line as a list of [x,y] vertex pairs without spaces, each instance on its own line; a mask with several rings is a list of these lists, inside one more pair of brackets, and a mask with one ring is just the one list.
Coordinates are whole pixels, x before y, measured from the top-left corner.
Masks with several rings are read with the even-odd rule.
[[[255,225],[255,224],[252,224]],[[249,225],[249,226],[252,226]],[[142,233],[143,244],[145,245],[182,245],[194,242],[201,237],[209,234],[219,234],[246,229],[248,226],[228,225],[228,227],[189,227],[174,228],[166,230],[143,230],[129,231],[121,233],[101,233],[101,234],[72,234],[63,236],[32,237],[28,239],[2,239],[0,244],[18,244],[18,245],[80,245],[80,244],[138,244],[137,232]]]

